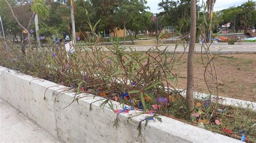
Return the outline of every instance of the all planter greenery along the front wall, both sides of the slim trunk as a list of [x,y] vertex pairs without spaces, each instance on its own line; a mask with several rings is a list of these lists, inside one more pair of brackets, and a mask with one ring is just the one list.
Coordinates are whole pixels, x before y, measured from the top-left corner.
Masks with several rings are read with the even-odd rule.
[[[97,27],[97,24],[89,25],[92,30]],[[200,31],[202,34],[207,31],[208,25],[210,24],[207,21],[200,25],[201,28],[206,27],[206,30]],[[45,34],[58,32],[45,27]],[[118,43],[103,47],[98,44],[99,36],[95,31],[92,31],[92,37],[96,42],[90,43],[89,46],[78,43],[75,45],[76,52],[73,54],[66,52],[62,43],[59,45],[49,43],[39,50],[28,49],[26,55],[21,53],[20,45],[8,43],[9,49],[6,51],[4,45],[0,44],[0,65],[71,87],[78,94],[71,103],[78,102],[78,99],[83,97],[102,96],[104,98],[95,102],[101,102],[102,107],[109,105],[110,109],[114,110],[111,100],[117,97],[117,101],[122,103],[123,108],[124,104],[127,104],[140,109],[143,106],[144,111],[149,111],[153,110],[152,105],[159,104],[161,106],[158,106],[157,113],[194,125],[199,124],[199,120],[211,118],[210,113],[214,110],[214,103],[209,107],[205,105],[196,107],[195,112],[199,113],[199,117],[193,117],[187,114],[185,98],[180,95],[180,91],[176,90],[178,77],[172,72],[182,54],[167,52],[166,48],[164,50],[150,48],[147,52],[137,52],[130,47],[119,47]],[[184,51],[186,50],[183,39],[178,40],[176,46],[183,46]],[[129,97],[122,98],[125,92],[129,93]],[[80,93],[83,94],[80,95]],[[159,97],[166,98],[167,104],[158,103]],[[44,100],[47,102],[46,98]],[[196,102],[204,104],[205,100]],[[95,102],[90,104],[90,110]],[[225,113],[214,114],[213,121],[210,120],[211,123],[205,125],[205,128],[218,132],[223,127],[230,127],[235,134],[241,135],[239,130],[242,125],[248,138],[255,139],[255,128],[252,127],[255,122],[255,112],[228,106],[217,105],[217,107],[226,108]],[[162,121],[157,117],[157,113],[142,119],[146,122],[145,126],[152,117]],[[235,119],[226,115],[234,115]],[[223,125],[215,125],[214,119],[222,119]],[[114,126],[118,126],[118,121],[118,118],[113,121]],[[139,121],[137,128],[139,134],[142,131],[142,121]]]

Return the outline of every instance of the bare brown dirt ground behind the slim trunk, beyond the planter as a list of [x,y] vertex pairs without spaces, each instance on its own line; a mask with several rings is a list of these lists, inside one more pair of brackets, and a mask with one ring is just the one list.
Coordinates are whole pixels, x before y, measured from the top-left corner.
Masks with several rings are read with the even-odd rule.
[[[219,96],[256,101],[256,54],[228,54],[215,59],[219,79]],[[228,58],[227,58],[228,57]],[[203,56],[206,59],[206,55]],[[204,66],[201,55],[194,55],[194,88],[208,93],[204,81]],[[187,54],[174,70],[179,77],[186,77]],[[211,82],[211,81],[210,81]],[[186,78],[179,78],[177,88],[186,89]]]

